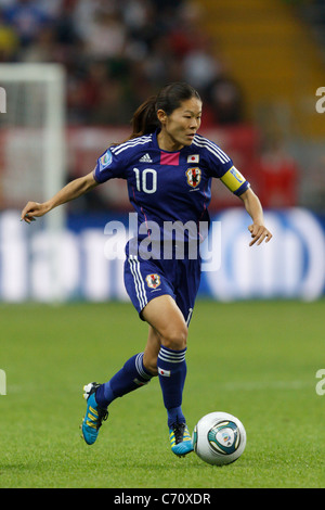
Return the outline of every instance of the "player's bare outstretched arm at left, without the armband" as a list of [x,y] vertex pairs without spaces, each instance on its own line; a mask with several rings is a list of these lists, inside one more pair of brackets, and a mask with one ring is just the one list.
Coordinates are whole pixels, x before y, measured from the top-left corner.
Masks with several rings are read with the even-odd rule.
[[43,216],[54,209],[54,207],[78,199],[78,196],[81,196],[83,193],[98,186],[98,183],[99,182],[95,181],[93,177],[93,171],[84,177],[72,180],[47,202],[28,202],[22,211],[21,219],[30,224],[30,221],[35,221],[36,217]]

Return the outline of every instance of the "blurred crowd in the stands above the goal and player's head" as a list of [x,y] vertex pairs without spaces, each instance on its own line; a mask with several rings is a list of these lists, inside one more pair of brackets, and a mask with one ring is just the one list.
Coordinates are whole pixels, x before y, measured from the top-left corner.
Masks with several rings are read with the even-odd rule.
[[188,0],[0,0],[0,62],[61,63],[69,125],[118,125],[167,82],[186,80],[205,125],[243,119],[240,88]]

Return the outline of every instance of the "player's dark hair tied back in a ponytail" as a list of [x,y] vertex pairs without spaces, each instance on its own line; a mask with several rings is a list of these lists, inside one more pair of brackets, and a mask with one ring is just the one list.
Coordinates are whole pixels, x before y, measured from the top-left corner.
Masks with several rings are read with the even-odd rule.
[[142,137],[154,132],[160,123],[157,117],[158,110],[164,110],[170,115],[174,110],[180,107],[182,101],[196,98],[200,101],[198,92],[185,82],[177,81],[164,87],[157,95],[152,95],[134,112],[132,118],[132,135],[128,138]]

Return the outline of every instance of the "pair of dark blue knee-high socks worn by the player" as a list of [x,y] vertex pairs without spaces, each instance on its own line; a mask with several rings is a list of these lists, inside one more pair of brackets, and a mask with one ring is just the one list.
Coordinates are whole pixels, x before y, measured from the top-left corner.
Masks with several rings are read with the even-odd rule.
[[[185,354],[186,348],[173,350],[164,346],[158,354],[158,377],[169,428],[186,421],[181,409],[186,378]],[[136,354],[108,382],[101,384],[95,394],[96,403],[105,409],[115,398],[147,384],[152,377],[143,365],[143,353]]]

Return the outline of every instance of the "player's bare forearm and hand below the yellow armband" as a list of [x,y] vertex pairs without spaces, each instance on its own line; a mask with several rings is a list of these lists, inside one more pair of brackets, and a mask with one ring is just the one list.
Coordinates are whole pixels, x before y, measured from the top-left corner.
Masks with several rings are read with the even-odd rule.
[[251,233],[252,241],[249,246],[255,243],[261,244],[264,240],[268,243],[272,239],[272,233],[264,226],[263,209],[259,197],[255,194],[251,188],[248,188],[244,193],[239,195],[243,200],[244,206],[252,219],[252,225],[249,225],[248,230]]

